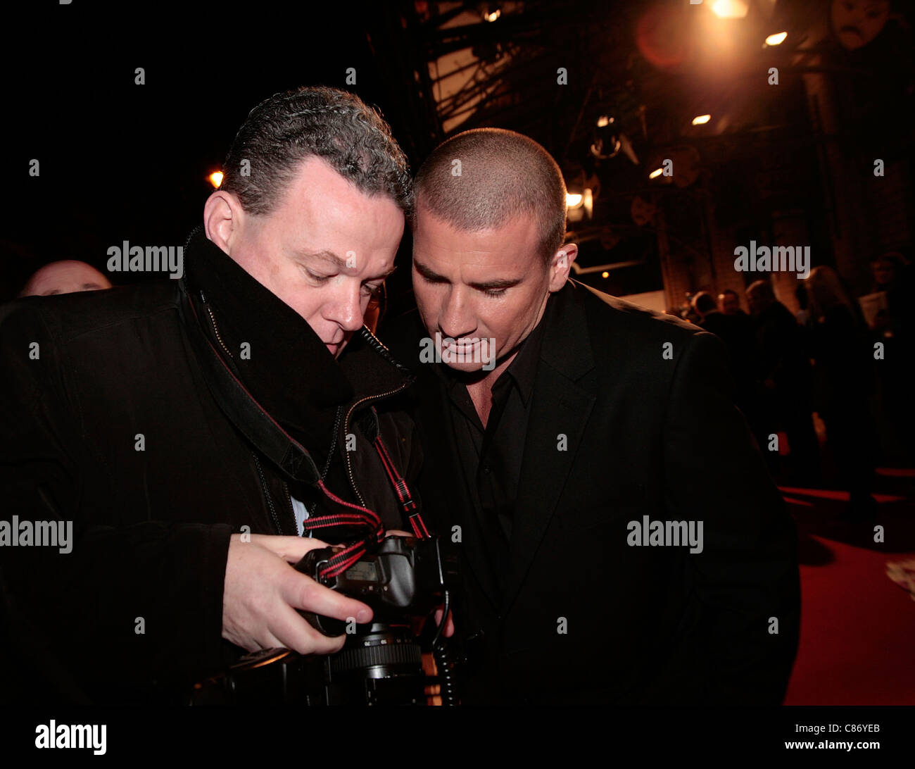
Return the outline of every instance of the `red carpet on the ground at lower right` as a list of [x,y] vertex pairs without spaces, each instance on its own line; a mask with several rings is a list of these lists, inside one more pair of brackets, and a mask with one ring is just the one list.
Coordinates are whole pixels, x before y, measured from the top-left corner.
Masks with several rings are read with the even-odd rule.
[[782,488],[801,540],[802,590],[786,705],[915,705],[915,601],[886,567],[915,558],[911,472],[878,478],[869,524],[844,522],[842,493]]

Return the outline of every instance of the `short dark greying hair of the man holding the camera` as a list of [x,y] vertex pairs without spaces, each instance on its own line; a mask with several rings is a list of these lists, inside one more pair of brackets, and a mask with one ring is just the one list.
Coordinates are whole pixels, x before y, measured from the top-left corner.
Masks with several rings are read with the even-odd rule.
[[355,94],[324,86],[274,93],[254,107],[226,156],[220,189],[238,197],[244,211],[269,214],[311,156],[411,215],[410,165],[390,126]]

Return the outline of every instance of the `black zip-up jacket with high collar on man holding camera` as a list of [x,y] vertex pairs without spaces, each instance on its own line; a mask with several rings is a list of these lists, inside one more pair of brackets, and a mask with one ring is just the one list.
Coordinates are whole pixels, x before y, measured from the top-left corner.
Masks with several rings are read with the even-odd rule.
[[296,534],[290,490],[329,512],[325,469],[332,493],[403,527],[370,441],[380,430],[410,482],[404,368],[364,328],[335,362],[199,231],[185,264],[179,281],[0,308],[2,518],[72,521],[74,539],[0,547],[10,701],[170,698],[234,661],[229,538]]

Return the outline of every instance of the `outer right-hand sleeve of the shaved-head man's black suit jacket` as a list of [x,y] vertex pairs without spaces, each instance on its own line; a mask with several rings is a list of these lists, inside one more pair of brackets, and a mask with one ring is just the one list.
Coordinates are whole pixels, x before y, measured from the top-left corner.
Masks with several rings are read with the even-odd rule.
[[729,397],[724,345],[696,334],[674,356],[664,421],[666,507],[704,522],[687,556],[703,612],[712,703],[778,704],[797,651],[797,537],[746,421]]

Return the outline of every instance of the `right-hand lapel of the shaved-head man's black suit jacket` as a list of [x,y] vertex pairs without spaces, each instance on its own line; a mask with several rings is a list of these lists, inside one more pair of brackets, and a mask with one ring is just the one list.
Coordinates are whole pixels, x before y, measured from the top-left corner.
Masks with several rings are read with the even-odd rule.
[[[534,380],[512,525],[511,574],[502,603],[506,612],[553,517],[597,399],[577,384],[594,367],[585,310],[576,300],[576,292],[584,290],[569,282],[547,305],[544,320],[549,325]],[[565,450],[560,450],[563,436]]]

